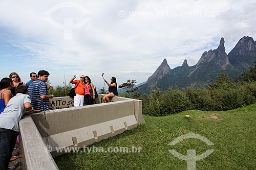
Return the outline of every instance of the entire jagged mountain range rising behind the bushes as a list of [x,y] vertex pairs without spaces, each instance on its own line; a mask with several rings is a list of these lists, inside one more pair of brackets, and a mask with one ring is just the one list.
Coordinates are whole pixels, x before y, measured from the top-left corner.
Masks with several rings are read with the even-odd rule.
[[146,83],[139,86],[138,91],[150,93],[155,87],[166,90],[169,86],[201,88],[212,84],[222,72],[230,79],[236,79],[253,67],[255,60],[256,41],[252,37],[241,38],[228,54],[225,52],[225,40],[221,38],[218,48],[204,52],[194,66],[188,66],[187,60],[184,60],[182,66],[170,69],[164,59]]

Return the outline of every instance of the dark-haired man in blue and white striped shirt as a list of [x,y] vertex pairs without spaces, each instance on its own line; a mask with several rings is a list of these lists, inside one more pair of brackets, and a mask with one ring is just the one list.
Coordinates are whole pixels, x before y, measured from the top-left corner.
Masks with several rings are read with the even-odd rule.
[[53,95],[49,95],[46,85],[49,75],[48,71],[40,70],[37,79],[29,85],[29,96],[34,109],[49,110],[49,99],[53,98]]

